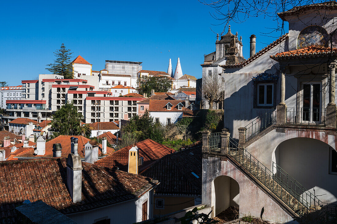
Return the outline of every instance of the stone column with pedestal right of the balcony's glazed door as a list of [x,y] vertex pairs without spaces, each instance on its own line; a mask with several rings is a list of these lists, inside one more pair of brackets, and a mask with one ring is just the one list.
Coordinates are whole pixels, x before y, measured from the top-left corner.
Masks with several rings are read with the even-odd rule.
[[325,115],[325,125],[327,127],[336,127],[337,118],[336,118],[336,103],[335,103],[335,69],[336,64],[331,63],[329,65],[329,103],[326,109]]

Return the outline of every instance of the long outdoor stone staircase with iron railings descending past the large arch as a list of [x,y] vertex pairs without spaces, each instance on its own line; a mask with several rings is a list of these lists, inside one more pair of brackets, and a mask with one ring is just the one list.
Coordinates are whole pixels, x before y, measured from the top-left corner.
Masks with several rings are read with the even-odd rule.
[[[274,192],[278,198],[292,207],[298,215],[308,213],[313,202],[322,205],[320,200],[311,193],[307,193],[307,190],[300,183],[296,182],[279,166],[273,164],[273,170],[270,170],[245,149],[237,147],[234,139],[229,138],[229,142],[228,154],[246,167],[250,174]],[[298,190],[295,190],[295,186]]]

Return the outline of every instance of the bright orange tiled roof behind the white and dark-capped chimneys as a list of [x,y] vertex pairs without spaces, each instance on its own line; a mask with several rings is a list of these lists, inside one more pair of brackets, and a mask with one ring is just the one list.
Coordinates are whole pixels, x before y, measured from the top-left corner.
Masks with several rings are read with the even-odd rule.
[[[44,155],[34,155],[34,150],[31,150],[26,153],[21,153],[17,157],[19,158],[50,158],[53,157],[53,144],[54,143],[60,143],[62,146],[62,157],[67,157],[69,153],[71,152],[71,146],[70,146],[70,137],[78,138],[78,153],[79,155],[84,158],[84,145],[91,141],[91,139],[83,137],[81,135],[59,135],[54,139],[51,139],[45,143],[45,154]],[[112,152],[115,152],[114,149],[107,147],[106,153],[110,154]],[[102,151],[98,150],[98,156],[103,156]]]

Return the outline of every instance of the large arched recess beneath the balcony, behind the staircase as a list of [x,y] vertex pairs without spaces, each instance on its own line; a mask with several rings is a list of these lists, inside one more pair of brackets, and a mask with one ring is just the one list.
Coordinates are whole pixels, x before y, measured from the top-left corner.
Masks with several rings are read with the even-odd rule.
[[[291,138],[276,147],[272,161],[274,173],[278,172],[275,167],[283,169],[283,173],[296,180],[297,188],[303,186],[306,193],[316,195],[324,203],[337,201],[337,153],[327,143],[313,138]],[[290,182],[286,175],[277,175],[284,183]],[[301,189],[296,192],[303,194]]]

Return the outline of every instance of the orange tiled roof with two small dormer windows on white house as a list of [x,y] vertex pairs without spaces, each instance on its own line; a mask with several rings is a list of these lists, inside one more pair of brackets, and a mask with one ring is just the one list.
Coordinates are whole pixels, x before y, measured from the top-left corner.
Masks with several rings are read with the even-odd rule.
[[[167,103],[171,103],[171,110],[168,110],[166,105]],[[178,104],[182,103],[182,109],[178,109]],[[185,108],[185,100],[152,100],[150,99],[149,111],[150,112],[183,112],[190,111],[190,109]]]

